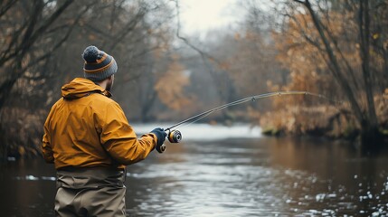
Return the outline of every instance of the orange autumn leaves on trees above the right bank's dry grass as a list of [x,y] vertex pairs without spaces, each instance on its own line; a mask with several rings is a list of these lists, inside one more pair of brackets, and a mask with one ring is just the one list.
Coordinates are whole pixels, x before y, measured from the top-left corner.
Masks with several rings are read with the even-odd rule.
[[[351,15],[329,12],[322,17],[321,22],[325,26],[327,37],[337,42],[330,44],[334,54],[339,58],[343,56],[351,60],[350,64],[357,64],[358,52],[355,46],[349,46],[351,42],[347,42],[344,37],[345,31],[348,31],[345,27],[354,26],[348,21]],[[328,95],[336,94],[338,87],[327,65],[326,48],[310,14],[293,14],[284,31],[272,33],[272,38],[279,51],[277,61],[289,71],[289,83],[280,90],[308,90]],[[304,98],[289,101],[291,105],[305,102],[308,100]]]

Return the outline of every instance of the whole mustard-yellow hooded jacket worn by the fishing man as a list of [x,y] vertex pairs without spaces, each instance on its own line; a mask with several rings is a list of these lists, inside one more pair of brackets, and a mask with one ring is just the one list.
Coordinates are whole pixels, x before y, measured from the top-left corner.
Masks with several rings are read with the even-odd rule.
[[64,166],[124,168],[143,160],[156,146],[156,135],[137,139],[118,103],[91,80],[77,78],[62,87],[62,99],[44,123],[43,157]]

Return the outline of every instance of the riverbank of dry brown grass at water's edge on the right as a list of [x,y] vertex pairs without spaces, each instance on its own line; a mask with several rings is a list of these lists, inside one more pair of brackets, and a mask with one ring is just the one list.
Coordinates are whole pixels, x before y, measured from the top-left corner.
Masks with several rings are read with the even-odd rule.
[[[377,116],[383,143],[388,144],[388,109],[381,101]],[[308,136],[359,142],[360,126],[349,109],[334,106],[289,106],[260,116],[262,134],[266,136]]]

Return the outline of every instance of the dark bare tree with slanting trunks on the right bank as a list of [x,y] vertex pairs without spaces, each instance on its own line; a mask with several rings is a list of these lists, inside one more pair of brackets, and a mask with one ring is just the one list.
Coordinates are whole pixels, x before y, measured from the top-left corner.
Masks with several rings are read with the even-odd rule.
[[[372,1],[375,2],[375,1]],[[317,40],[311,35],[305,34],[307,42],[313,44],[321,52],[325,59],[332,76],[338,82],[349,100],[353,114],[361,127],[362,143],[364,145],[374,146],[381,141],[381,133],[378,129],[379,123],[376,117],[374,106],[374,80],[372,79],[370,67],[370,26],[371,26],[371,1],[319,1],[311,3],[309,0],[292,0],[289,1],[289,8],[298,13],[298,5],[302,5],[306,12],[311,17],[314,29],[318,35]],[[333,4],[332,4],[333,3]],[[336,3],[336,4],[334,4]],[[353,14],[353,21],[358,24],[358,31],[352,29],[351,26],[345,27],[344,37],[356,34],[355,43],[360,47],[361,65],[359,69],[352,66],[349,60],[346,59],[344,51],[345,46],[339,43],[339,38],[335,36],[330,22],[330,10],[344,10],[346,14]],[[295,11],[293,13],[295,13]],[[340,12],[339,12],[340,13]],[[291,14],[287,14],[292,17]],[[346,33],[348,32],[348,33]],[[355,78],[356,71],[362,71],[362,80],[364,83],[359,83]],[[350,75],[351,79],[348,79]],[[363,105],[363,100],[360,100],[359,94],[364,94],[366,99],[366,107]],[[362,99],[362,98],[361,98]]]

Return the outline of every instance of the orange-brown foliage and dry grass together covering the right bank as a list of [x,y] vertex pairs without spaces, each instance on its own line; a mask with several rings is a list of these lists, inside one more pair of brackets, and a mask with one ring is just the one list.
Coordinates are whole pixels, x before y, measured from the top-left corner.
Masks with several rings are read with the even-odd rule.
[[[273,31],[272,38],[279,51],[277,61],[289,71],[289,83],[269,87],[271,90],[308,90],[341,103],[307,97],[274,99],[276,111],[261,117],[262,126],[275,128],[272,130],[277,133],[326,137],[355,137],[360,130],[363,135],[364,130],[372,132],[372,126],[386,126],[387,107],[382,93],[387,85],[384,64],[388,60],[382,52],[378,52],[387,49],[383,45],[388,42],[386,36],[379,38],[386,30],[374,29],[380,20],[374,19],[371,23],[360,21],[358,11],[374,10],[363,8],[364,5],[347,5],[350,8],[346,8],[341,4],[343,2],[340,1],[336,7],[318,7],[314,12],[306,1],[300,5],[305,5],[309,13],[292,11],[287,16],[284,29]],[[289,8],[294,6],[289,4]],[[325,14],[317,18],[317,14],[323,12]],[[364,14],[366,16],[368,14]],[[372,17],[378,16],[380,14]],[[362,41],[360,34],[368,31],[372,36],[368,34],[366,37],[370,37],[376,46]],[[363,51],[365,48],[368,56]],[[371,71],[374,71],[374,76],[370,75]],[[372,99],[368,92],[372,94]],[[374,121],[374,114],[378,121]],[[372,134],[379,134],[377,131]]]

